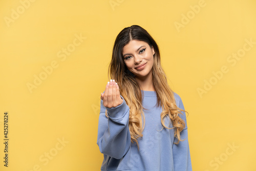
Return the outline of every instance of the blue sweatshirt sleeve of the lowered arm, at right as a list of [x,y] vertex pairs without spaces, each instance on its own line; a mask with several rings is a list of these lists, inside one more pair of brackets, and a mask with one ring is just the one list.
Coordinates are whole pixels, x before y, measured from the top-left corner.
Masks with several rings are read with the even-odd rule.
[[[175,94],[176,102],[178,107],[182,110],[184,109],[183,102],[179,95]],[[189,144],[188,144],[188,133],[187,133],[187,121],[186,121],[186,114],[183,112],[183,115],[180,117],[185,121],[185,128],[181,131],[180,137],[181,140],[185,139],[184,141],[180,141],[179,144],[173,143],[173,158],[174,158],[174,170],[181,170],[181,171],[191,171],[191,158],[189,152]],[[175,138],[174,142],[178,142],[178,139]]]

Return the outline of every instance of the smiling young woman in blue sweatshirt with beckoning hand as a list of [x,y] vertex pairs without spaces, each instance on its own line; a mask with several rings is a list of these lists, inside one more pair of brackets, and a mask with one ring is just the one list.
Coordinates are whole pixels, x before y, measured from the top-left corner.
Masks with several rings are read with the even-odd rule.
[[134,25],[118,34],[109,73],[98,124],[101,170],[192,170],[186,111],[146,30]]

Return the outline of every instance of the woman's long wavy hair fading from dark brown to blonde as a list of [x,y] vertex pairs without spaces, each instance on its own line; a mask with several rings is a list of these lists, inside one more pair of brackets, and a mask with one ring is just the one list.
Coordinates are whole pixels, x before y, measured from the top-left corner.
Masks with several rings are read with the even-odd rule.
[[[162,106],[163,109],[161,123],[166,129],[175,129],[175,137],[178,139],[178,142],[175,143],[178,144],[179,141],[183,141],[180,138],[180,132],[184,129],[185,122],[179,114],[182,114],[181,111],[184,110],[178,108],[175,102],[174,92],[168,86],[165,72],[161,67],[160,52],[156,41],[145,29],[137,25],[126,27],[117,35],[108,71],[111,79],[115,79],[118,83],[120,95],[123,96],[126,104],[130,108],[129,129],[131,142],[136,142],[138,145],[138,138],[143,136],[142,131],[145,125],[141,90],[135,79],[135,75],[125,66],[122,56],[123,47],[131,40],[145,41],[150,47],[154,47],[155,54],[152,68],[153,85],[157,94],[157,106]],[[108,117],[107,112],[106,116]],[[164,124],[166,118],[172,121],[174,127],[169,128],[168,125],[166,126]]]

